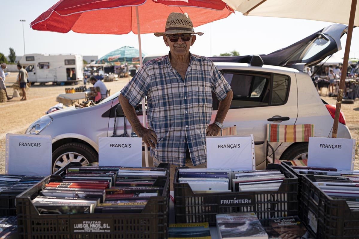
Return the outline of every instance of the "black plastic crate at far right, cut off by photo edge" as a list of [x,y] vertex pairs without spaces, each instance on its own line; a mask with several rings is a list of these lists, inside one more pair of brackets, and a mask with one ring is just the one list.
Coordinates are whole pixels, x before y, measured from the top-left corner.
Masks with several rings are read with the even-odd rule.
[[332,199],[312,182],[327,176],[301,175],[285,167],[299,178],[299,218],[317,239],[359,238],[359,211],[350,210],[343,199]]

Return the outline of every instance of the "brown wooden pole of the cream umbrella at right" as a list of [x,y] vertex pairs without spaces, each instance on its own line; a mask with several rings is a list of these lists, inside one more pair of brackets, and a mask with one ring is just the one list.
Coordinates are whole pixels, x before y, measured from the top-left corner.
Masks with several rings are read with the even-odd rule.
[[357,0],[351,0],[348,33],[347,33],[347,36],[346,36],[343,67],[341,69],[341,77],[340,77],[340,82],[339,82],[339,91],[338,91],[337,103],[336,103],[336,107],[335,107],[335,116],[334,116],[334,123],[333,123],[332,138],[336,138],[337,132],[338,132],[341,100],[343,99],[343,90],[344,90],[344,85],[345,85],[346,71],[348,69],[348,60],[349,60],[351,36],[353,35],[356,1]]

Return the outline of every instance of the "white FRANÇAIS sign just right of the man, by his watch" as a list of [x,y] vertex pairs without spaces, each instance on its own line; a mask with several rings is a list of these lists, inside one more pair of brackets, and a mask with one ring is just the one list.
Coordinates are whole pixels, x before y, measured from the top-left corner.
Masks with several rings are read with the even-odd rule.
[[207,137],[207,168],[255,170],[253,135]]

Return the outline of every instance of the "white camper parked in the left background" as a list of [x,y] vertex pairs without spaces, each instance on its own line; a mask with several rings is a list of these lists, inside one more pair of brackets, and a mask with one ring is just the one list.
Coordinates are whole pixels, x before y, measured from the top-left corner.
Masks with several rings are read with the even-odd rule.
[[75,82],[83,80],[81,55],[26,54],[20,59],[29,74],[28,81],[35,83]]

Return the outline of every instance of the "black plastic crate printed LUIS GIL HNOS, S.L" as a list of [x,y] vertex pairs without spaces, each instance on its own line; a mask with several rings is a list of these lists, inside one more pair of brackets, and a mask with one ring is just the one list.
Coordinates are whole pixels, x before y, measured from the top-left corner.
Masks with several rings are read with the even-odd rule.
[[[74,164],[68,164],[75,166]],[[63,170],[66,170],[66,166]],[[31,239],[166,239],[168,233],[169,213],[169,164],[159,164],[167,167],[167,180],[161,196],[151,197],[141,213],[125,214],[39,214],[31,202],[45,187],[53,181],[62,181],[61,176],[51,175],[21,193],[17,199],[18,233],[19,238]],[[61,170],[61,169],[60,169]],[[59,172],[60,173],[60,172]],[[88,226],[102,226],[106,231],[88,229]],[[76,227],[76,228],[75,228]],[[74,230],[88,229],[84,232]]]

